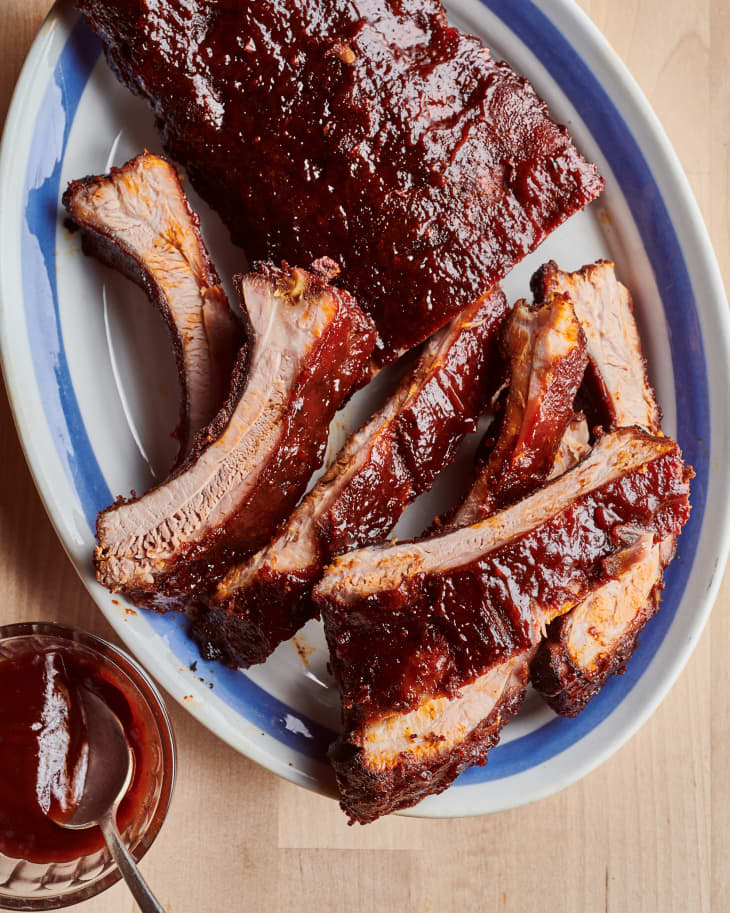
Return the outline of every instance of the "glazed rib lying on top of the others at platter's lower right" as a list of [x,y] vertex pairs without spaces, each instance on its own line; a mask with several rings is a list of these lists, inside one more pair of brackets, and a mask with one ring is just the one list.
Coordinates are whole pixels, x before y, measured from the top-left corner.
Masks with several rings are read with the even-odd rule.
[[529,648],[609,579],[622,543],[679,531],[688,474],[673,441],[622,429],[473,526],[335,559],[314,595],[346,711],[413,709]]

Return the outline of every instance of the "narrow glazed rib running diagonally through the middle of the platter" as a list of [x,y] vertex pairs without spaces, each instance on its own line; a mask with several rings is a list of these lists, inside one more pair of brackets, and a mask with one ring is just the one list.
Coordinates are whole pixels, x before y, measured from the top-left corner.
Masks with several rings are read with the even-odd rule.
[[333,555],[382,539],[431,487],[476,430],[506,312],[498,288],[440,330],[276,538],[226,574],[194,626],[207,658],[263,662],[318,614],[312,587]]

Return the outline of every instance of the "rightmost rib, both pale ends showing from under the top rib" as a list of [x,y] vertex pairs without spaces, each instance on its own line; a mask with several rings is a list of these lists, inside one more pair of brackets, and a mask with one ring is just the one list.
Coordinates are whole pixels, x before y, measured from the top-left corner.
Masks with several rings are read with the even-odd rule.
[[[568,295],[588,342],[588,381],[605,426],[638,425],[659,433],[660,411],[646,376],[628,290],[612,263],[575,273],[549,263],[533,277],[536,298]],[[548,704],[575,716],[621,673],[639,633],[659,607],[662,575],[676,537],[640,538],[617,558],[614,580],[555,621],[532,662],[531,678]]]

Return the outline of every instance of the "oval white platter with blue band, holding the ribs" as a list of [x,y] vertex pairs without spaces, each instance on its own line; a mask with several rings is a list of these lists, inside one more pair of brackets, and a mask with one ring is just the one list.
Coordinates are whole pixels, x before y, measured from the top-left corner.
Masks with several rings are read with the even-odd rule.
[[[603,197],[571,219],[505,282],[528,292],[553,257],[576,268],[617,263],[636,299],[650,374],[665,416],[697,472],[692,519],[667,575],[662,610],[627,673],[576,720],[530,695],[484,768],[409,814],[459,816],[510,808],[586,774],[647,719],[707,620],[728,549],[728,313],[697,206],[659,123],[623,65],[572,0],[452,0],[449,14],[535,85],[607,179]],[[279,775],[333,794],[324,760],[338,723],[318,623],[247,673],[200,661],[179,616],[129,613],[94,580],[93,520],[115,495],[143,491],[173,453],[177,386],[165,330],[142,294],[83,257],[63,226],[72,178],[159,150],[144,105],[117,85],[70,4],[54,7],[28,56],[0,153],[0,340],[18,431],[69,557],[120,637],[203,724]],[[219,271],[244,265],[218,218],[191,193]],[[333,423],[328,453],[365,416],[358,394]],[[466,459],[464,455],[464,459]],[[417,534],[448,501],[459,468],[397,528]],[[191,664],[197,662],[195,671]],[[210,685],[213,687],[211,688]]]

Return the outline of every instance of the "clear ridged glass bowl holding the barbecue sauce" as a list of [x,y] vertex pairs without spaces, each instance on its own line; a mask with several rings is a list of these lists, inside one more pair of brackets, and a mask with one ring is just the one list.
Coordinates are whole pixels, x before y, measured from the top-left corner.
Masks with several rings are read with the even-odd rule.
[[[123,838],[139,862],[162,827],[175,783],[175,738],[159,691],[126,653],[100,637],[66,625],[47,622],[0,627],[0,662],[31,651],[69,649],[89,655],[118,683],[149,735],[149,784],[145,800],[124,828]],[[2,810],[0,809],[0,814]],[[71,862],[29,862],[0,852],[0,908],[55,910],[88,900],[120,879],[104,846]]]

